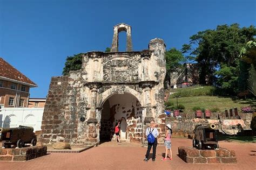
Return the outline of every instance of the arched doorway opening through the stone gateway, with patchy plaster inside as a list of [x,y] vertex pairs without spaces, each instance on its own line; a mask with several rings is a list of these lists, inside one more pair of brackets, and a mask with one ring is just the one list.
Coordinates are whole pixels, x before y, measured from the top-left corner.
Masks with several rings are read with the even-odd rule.
[[100,118],[100,143],[115,139],[114,126],[120,121],[120,138],[130,142],[142,139],[142,109],[130,93],[113,94],[103,102]]

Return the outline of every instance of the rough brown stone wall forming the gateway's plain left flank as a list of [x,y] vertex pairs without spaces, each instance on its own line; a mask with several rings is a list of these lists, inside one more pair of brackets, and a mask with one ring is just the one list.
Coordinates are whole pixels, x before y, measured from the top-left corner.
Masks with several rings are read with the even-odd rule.
[[[75,88],[69,86],[69,77],[52,77],[46,99],[41,126],[41,142],[49,144],[56,141],[77,143],[78,112]],[[74,96],[75,95],[75,96]],[[73,99],[70,101],[70,99]],[[71,141],[72,139],[72,141]]]

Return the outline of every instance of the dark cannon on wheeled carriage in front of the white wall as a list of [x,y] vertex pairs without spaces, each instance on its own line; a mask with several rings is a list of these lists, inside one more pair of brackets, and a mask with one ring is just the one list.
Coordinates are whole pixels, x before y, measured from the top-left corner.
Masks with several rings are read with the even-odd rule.
[[25,144],[35,146],[37,143],[33,127],[30,126],[20,125],[18,128],[0,128],[0,138],[4,148],[11,147],[11,145],[21,148]]

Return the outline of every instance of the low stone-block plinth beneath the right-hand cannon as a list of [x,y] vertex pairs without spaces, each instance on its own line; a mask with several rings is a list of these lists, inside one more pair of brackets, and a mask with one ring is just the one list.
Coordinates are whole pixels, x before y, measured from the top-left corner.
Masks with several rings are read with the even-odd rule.
[[178,147],[179,157],[188,164],[237,164],[235,152],[226,148],[198,150],[193,147]]

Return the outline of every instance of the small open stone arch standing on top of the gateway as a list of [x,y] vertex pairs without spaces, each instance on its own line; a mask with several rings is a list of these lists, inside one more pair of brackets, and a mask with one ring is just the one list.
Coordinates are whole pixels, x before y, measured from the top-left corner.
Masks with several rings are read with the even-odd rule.
[[126,32],[126,51],[132,51],[132,35],[131,35],[131,26],[121,23],[114,26],[114,35],[112,41],[111,52],[118,52],[118,34],[119,32]]

